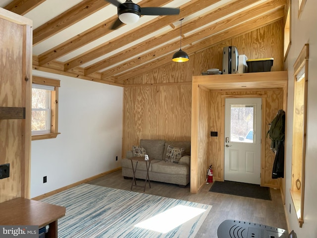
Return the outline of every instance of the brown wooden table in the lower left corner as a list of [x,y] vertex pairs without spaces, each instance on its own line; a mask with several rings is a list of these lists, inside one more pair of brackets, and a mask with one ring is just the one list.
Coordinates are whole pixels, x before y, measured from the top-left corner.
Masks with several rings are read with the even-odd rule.
[[0,211],[0,225],[29,225],[39,228],[49,225],[49,238],[57,238],[57,219],[66,214],[65,207],[22,197],[0,203]]

